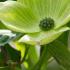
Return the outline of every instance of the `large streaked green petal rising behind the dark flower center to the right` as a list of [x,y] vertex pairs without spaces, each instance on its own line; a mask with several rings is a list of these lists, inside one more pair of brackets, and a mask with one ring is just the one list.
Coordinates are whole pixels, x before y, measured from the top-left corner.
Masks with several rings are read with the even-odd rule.
[[38,16],[41,20],[45,17],[53,18],[55,21],[55,29],[67,24],[70,21],[70,0],[18,0],[25,4]]

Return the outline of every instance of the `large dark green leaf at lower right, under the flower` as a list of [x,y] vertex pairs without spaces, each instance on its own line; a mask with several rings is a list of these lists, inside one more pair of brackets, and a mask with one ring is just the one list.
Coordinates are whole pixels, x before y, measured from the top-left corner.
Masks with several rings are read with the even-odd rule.
[[54,42],[46,45],[49,53],[66,70],[70,70],[70,52],[68,50],[68,32]]

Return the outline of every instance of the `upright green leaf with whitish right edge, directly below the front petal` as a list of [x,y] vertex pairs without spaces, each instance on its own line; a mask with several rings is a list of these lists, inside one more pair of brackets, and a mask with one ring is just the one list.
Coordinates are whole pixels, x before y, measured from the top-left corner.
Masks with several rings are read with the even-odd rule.
[[[27,70],[31,70],[31,68],[38,62],[39,60],[39,52],[40,52],[40,49],[38,48],[39,46],[31,46],[31,45],[28,45],[29,47],[29,50],[28,50],[28,53],[27,53],[27,57],[26,57],[26,69]],[[27,50],[26,50],[27,52]],[[25,65],[25,62],[24,65]]]

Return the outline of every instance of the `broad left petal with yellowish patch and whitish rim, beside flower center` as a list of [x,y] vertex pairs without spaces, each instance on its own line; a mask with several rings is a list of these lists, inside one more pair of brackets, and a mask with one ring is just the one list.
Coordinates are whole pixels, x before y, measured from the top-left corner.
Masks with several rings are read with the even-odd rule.
[[0,3],[0,20],[14,31],[25,33],[40,31],[37,15],[16,1]]

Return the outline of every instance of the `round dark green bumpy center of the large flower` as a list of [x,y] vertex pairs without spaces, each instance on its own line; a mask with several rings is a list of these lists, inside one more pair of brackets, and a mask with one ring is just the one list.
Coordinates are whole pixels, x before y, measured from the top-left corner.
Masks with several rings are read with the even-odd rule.
[[43,31],[51,30],[54,27],[54,20],[52,18],[45,18],[40,21],[39,27]]

